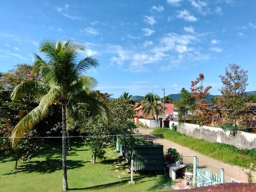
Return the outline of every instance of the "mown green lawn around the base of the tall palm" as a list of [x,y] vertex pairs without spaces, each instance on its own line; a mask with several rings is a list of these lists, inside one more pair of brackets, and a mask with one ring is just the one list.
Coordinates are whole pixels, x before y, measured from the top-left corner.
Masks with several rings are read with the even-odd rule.
[[[40,150],[30,162],[19,162],[18,170],[14,170],[15,162],[10,158],[0,158],[0,191],[61,192],[62,160],[61,146],[58,144],[61,144],[61,140]],[[106,146],[105,157],[105,160],[92,164],[90,149],[81,146],[80,142],[73,142],[67,157],[70,191],[142,192],[172,189],[170,178],[160,174],[136,173],[135,184],[130,185],[130,174],[125,171],[127,166],[122,166],[122,159],[118,158],[112,146]]]

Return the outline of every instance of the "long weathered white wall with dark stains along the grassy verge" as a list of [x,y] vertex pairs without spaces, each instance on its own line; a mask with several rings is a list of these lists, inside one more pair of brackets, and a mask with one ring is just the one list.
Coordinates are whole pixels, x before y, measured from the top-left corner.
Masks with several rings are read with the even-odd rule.
[[209,142],[225,143],[234,145],[238,148],[256,148],[256,134],[243,131],[237,131],[232,134],[230,130],[222,128],[202,126],[191,123],[182,123],[180,126],[176,121],[170,121],[170,125],[177,126],[177,131],[194,138],[203,139]]

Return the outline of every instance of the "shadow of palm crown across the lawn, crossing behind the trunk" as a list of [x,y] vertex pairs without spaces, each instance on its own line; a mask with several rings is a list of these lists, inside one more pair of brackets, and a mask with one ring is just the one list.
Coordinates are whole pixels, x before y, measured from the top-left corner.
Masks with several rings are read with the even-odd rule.
[[[86,162],[88,161],[67,160],[68,170],[85,166]],[[17,174],[20,172],[24,172],[24,173],[38,172],[41,174],[47,174],[47,173],[52,173],[58,170],[62,170],[62,160],[48,159],[44,161],[33,161],[33,162],[24,163],[19,166],[18,170],[7,173],[5,175]]]

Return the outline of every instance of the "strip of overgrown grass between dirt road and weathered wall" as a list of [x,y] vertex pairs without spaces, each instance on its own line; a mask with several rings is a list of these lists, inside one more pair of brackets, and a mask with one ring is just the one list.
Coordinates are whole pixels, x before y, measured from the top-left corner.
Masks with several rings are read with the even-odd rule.
[[256,165],[256,149],[242,150],[232,145],[207,142],[186,136],[185,134],[181,134],[168,128],[156,128],[152,133],[163,133],[158,136],[188,147],[216,160],[220,160],[224,163],[244,168],[250,168],[251,163]]

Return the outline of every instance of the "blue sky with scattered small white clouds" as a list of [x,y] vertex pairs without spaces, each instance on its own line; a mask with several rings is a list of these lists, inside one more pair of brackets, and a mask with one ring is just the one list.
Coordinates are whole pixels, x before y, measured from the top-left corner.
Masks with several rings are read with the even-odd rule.
[[219,94],[228,63],[248,70],[256,90],[256,2],[76,0],[0,2],[0,71],[33,63],[45,38],[84,44],[100,66],[89,76],[118,97],[190,88],[199,73]]

